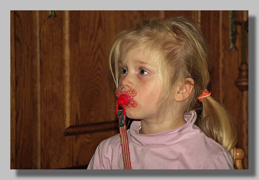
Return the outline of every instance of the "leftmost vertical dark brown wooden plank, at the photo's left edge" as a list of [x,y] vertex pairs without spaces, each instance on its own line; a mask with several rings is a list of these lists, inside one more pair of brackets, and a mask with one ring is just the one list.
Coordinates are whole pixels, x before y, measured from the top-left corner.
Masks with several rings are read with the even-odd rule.
[[14,11],[15,169],[37,169],[37,23],[35,11]]

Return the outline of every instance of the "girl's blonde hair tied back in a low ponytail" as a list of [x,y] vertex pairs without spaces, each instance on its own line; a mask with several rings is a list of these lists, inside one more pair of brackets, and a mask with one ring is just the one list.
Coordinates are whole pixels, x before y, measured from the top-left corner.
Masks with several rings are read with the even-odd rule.
[[167,110],[163,108],[169,107],[167,105],[172,101],[175,83],[190,83],[186,78],[192,78],[195,82],[192,84],[193,91],[182,112],[202,110],[201,116],[197,117],[196,125],[208,137],[227,149],[234,161],[234,148],[237,144],[234,118],[211,96],[203,99],[202,103],[197,101],[211,80],[211,48],[199,28],[199,23],[183,17],[151,18],[141,20],[136,26],[119,32],[110,44],[109,54],[109,69],[116,88],[119,81],[121,50],[126,49],[128,52],[143,45],[147,49],[155,49],[157,57],[161,59],[159,73],[161,77],[168,77],[161,79],[165,93],[161,94],[157,103],[157,110],[161,112],[159,116]]

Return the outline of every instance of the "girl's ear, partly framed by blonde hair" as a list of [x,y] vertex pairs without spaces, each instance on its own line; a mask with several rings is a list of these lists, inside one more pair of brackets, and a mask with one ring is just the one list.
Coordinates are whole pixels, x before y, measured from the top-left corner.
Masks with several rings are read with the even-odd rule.
[[177,86],[175,101],[181,102],[186,100],[193,91],[194,80],[192,78],[186,78],[185,80],[188,82],[179,83]]

